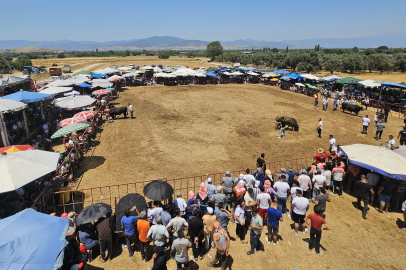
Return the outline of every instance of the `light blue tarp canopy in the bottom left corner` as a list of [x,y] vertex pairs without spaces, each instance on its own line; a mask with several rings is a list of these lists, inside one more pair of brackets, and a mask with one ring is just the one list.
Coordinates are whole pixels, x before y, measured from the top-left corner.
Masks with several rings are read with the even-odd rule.
[[0,220],[0,269],[51,270],[63,264],[68,219],[26,209]]

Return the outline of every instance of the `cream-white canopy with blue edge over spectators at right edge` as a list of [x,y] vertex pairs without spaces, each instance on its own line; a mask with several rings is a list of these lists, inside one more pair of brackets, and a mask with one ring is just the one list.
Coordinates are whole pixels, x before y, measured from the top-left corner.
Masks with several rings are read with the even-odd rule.
[[352,144],[340,146],[351,164],[373,170],[384,176],[406,180],[406,157],[379,146]]

